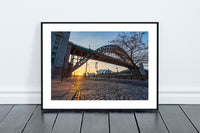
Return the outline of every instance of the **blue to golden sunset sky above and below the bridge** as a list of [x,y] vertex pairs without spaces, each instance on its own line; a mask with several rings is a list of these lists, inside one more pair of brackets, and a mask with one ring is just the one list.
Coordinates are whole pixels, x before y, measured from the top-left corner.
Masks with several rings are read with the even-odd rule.
[[[83,46],[85,48],[89,48],[96,50],[99,47],[102,47],[104,45],[108,45],[108,41],[111,41],[115,38],[117,38],[117,35],[120,32],[71,32],[69,41],[79,45]],[[143,40],[146,42],[148,40],[148,33],[145,32],[143,36]],[[118,68],[118,71],[126,70],[127,68],[121,67],[118,65],[113,65],[101,61],[96,60],[89,60],[88,66],[87,66],[87,72],[89,73],[96,73],[95,69],[95,62],[98,62],[98,70],[100,69],[109,69],[113,72],[116,72]],[[86,63],[83,64],[81,67],[79,67],[77,70],[75,70],[75,75],[78,74],[84,74],[86,68]],[[74,74],[74,72],[73,72]]]

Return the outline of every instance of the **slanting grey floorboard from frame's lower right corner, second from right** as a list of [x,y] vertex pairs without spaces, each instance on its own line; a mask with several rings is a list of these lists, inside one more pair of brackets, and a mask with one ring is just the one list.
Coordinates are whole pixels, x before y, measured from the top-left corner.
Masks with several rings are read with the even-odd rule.
[[170,133],[197,133],[178,105],[160,105],[159,111]]

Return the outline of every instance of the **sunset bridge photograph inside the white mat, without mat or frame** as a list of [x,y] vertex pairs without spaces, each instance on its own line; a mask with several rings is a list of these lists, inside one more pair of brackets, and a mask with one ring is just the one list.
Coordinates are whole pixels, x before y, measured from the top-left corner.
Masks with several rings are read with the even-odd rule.
[[148,100],[148,32],[51,32],[52,100]]

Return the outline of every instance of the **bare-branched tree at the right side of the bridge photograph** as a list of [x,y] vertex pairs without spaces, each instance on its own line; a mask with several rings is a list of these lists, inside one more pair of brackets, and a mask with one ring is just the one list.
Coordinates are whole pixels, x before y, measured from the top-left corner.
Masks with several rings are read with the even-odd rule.
[[[109,41],[111,45],[117,45],[121,49],[117,55],[126,62],[131,63],[142,78],[138,65],[148,65],[148,42],[144,42],[145,32],[121,32],[117,38]],[[119,53],[120,52],[120,53]]]

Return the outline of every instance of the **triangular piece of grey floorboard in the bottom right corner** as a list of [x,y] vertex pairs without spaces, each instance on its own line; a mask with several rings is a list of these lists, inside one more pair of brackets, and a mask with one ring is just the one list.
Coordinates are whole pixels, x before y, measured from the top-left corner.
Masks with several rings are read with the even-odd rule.
[[180,105],[192,124],[200,132],[200,105]]

